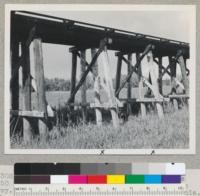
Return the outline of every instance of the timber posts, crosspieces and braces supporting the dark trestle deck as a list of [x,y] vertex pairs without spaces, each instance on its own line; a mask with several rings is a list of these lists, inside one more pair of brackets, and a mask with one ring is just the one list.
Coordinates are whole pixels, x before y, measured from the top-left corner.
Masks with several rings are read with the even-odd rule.
[[[12,15],[13,17],[13,15]],[[64,25],[68,25],[66,20],[64,20]],[[70,23],[73,26],[74,23]],[[70,28],[68,26],[68,28]],[[47,101],[45,95],[45,81],[44,81],[44,67],[43,67],[43,53],[42,53],[42,42],[43,37],[41,33],[38,33],[38,26],[35,24],[30,28],[29,33],[23,39],[17,39],[16,37],[11,37],[11,114],[15,116],[21,116],[23,118],[23,137],[27,142],[31,141],[32,138],[32,118],[38,120],[38,130],[42,138],[45,138],[46,132],[48,131],[47,120]],[[65,28],[66,31],[66,28]],[[86,121],[87,116],[87,97],[86,97],[86,78],[89,72],[93,74],[94,80],[94,103],[90,103],[89,106],[94,108],[96,114],[96,124],[102,124],[102,108],[109,109],[112,116],[112,122],[114,127],[119,127],[118,119],[118,108],[123,107],[123,103],[127,103],[127,111],[131,113],[131,104],[134,102],[139,102],[140,111],[142,117],[146,116],[146,103],[155,103],[157,108],[158,116],[163,117],[163,102],[173,100],[174,105],[177,105],[176,101],[179,98],[189,98],[189,82],[188,74],[189,70],[186,67],[186,57],[184,56],[184,50],[178,48],[176,55],[169,53],[169,65],[167,67],[163,66],[162,55],[154,55],[154,50],[156,50],[156,45],[152,42],[148,43],[141,50],[129,50],[120,51],[115,53],[117,57],[117,70],[116,70],[116,84],[115,89],[113,87],[113,81],[111,77],[111,63],[109,62],[107,50],[116,46],[116,41],[113,41],[112,34],[115,30],[107,31],[104,36],[101,37],[97,45],[93,46],[78,46],[69,49],[72,53],[72,69],[71,69],[71,90],[70,97],[67,100],[66,105],[73,109],[75,103],[75,95],[78,90],[81,89],[81,105],[82,105],[82,115],[83,121]],[[135,34],[136,39],[143,39],[145,36],[139,36]],[[155,39],[155,38],[154,38]],[[160,39],[160,42],[162,40]],[[34,70],[36,81],[36,108],[32,110],[31,105],[31,81],[33,77],[31,76],[30,69],[30,44],[33,43],[33,54],[34,54]],[[166,44],[167,42],[163,42]],[[70,45],[70,44],[69,44]],[[114,46],[113,46],[114,45]],[[21,52],[19,51],[19,46],[21,46]],[[91,49],[92,60],[90,63],[86,60],[86,49]],[[132,64],[133,54],[136,57],[136,63]],[[127,58],[125,57],[127,55]],[[80,58],[81,62],[81,77],[76,83],[77,75],[77,57]],[[99,62],[98,59],[101,58],[103,67],[103,76],[99,74]],[[146,58],[146,67],[148,69],[148,75],[144,74],[142,61]],[[127,76],[125,80],[121,82],[121,69],[122,62],[127,64]],[[155,63],[158,65],[158,77],[155,73]],[[180,70],[182,74],[182,82],[176,78],[176,65],[180,65]],[[23,83],[22,83],[22,111],[19,111],[19,68],[22,67]],[[188,73],[187,73],[188,72]],[[132,98],[132,85],[131,77],[132,74],[136,73],[139,78],[138,91],[139,97]],[[169,96],[164,97],[162,92],[162,78],[165,74],[171,77],[171,93]],[[149,81],[149,77],[151,82]],[[103,78],[102,78],[103,77]],[[127,84],[127,99],[120,98],[120,91]],[[176,86],[180,86],[184,93],[181,95],[176,94]],[[144,86],[147,86],[153,97],[148,98],[144,95]],[[108,102],[101,102],[100,89],[104,88],[108,95]]]

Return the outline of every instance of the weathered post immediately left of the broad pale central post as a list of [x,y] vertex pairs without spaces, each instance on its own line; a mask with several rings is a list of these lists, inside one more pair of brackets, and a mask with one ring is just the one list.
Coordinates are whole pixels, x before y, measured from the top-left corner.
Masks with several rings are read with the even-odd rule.
[[[96,54],[96,49],[91,48],[91,56],[92,58]],[[100,77],[99,77],[99,70],[98,70],[98,62],[96,61],[93,67],[93,76],[94,76],[94,102],[96,105],[100,105]],[[102,125],[102,113],[100,108],[95,108],[96,114],[96,124]]]

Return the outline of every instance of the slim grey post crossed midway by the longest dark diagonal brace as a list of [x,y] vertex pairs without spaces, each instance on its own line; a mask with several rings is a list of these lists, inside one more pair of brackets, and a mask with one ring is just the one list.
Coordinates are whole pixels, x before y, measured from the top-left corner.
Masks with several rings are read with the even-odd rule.
[[[84,74],[86,70],[85,62],[82,59],[86,58],[86,51],[81,50],[81,75]],[[86,122],[87,120],[87,110],[86,110],[86,104],[87,104],[87,95],[86,95],[86,80],[83,82],[81,87],[81,102],[82,102],[82,115],[83,115],[83,122]]]

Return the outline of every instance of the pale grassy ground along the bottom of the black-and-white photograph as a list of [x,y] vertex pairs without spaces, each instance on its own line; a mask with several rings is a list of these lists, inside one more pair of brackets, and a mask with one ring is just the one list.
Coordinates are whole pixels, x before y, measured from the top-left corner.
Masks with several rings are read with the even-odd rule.
[[105,123],[98,127],[95,124],[80,123],[74,127],[54,127],[45,141],[36,137],[30,144],[22,138],[11,138],[12,148],[30,149],[99,149],[99,148],[188,148],[189,119],[188,109],[165,111],[165,118],[159,119],[150,114],[145,119],[139,115],[130,116],[129,120],[119,129]]

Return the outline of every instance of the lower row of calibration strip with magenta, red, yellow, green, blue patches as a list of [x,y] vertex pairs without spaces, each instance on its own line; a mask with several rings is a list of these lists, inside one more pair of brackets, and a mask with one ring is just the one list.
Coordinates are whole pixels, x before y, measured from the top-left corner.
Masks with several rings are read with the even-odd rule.
[[18,176],[15,184],[180,184],[181,175],[51,175]]

